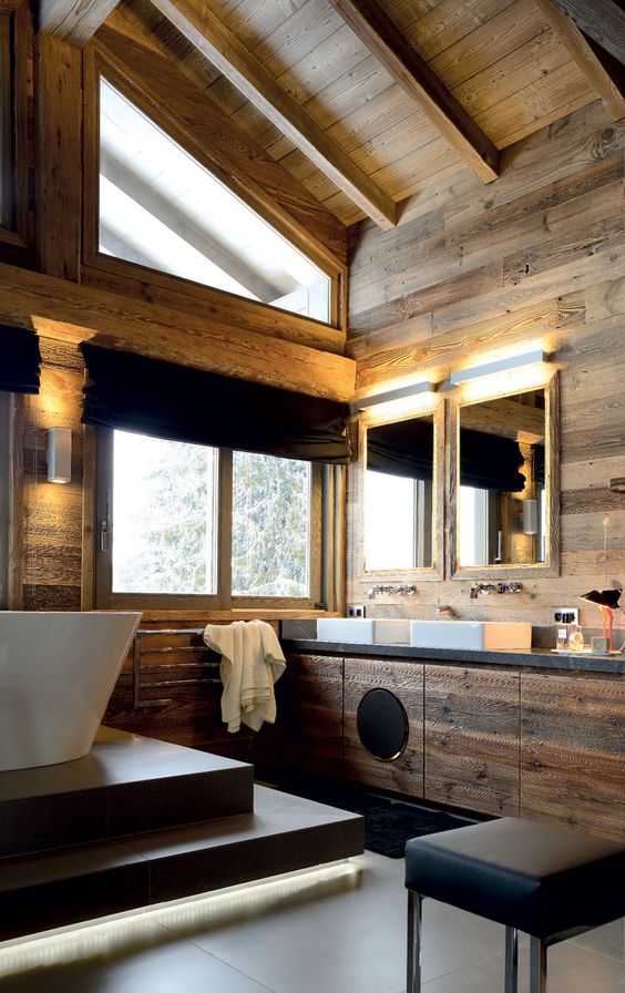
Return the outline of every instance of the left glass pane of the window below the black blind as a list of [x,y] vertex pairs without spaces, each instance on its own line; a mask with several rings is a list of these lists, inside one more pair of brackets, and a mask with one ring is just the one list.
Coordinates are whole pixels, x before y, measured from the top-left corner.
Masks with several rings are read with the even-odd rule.
[[216,592],[216,449],[114,432],[114,592]]

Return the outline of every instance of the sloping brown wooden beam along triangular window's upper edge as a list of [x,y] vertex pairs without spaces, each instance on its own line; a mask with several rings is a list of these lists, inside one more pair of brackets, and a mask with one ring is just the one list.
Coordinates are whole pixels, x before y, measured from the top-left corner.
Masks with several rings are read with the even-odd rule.
[[[98,32],[93,51],[99,57],[94,78],[103,70],[114,86],[325,272],[328,266],[345,270],[346,226],[164,55],[107,25]],[[84,61],[90,72],[88,52]],[[94,133],[93,155],[96,140]]]

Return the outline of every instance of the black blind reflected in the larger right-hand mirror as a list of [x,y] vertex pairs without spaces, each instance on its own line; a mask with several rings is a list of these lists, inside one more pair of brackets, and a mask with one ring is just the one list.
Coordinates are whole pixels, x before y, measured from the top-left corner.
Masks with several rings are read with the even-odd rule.
[[483,431],[460,430],[460,484],[500,493],[520,493],[525,477],[519,471],[523,455],[519,442]]

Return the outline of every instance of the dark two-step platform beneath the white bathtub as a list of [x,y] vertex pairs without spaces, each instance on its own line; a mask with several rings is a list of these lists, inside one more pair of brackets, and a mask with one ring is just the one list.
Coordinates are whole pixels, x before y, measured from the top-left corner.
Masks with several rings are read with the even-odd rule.
[[363,819],[102,729],[82,759],[0,774],[0,844],[7,940],[358,854]]

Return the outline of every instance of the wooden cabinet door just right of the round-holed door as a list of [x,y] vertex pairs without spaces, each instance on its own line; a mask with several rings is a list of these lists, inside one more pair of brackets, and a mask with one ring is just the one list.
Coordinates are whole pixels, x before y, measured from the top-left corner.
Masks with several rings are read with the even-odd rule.
[[519,673],[426,666],[426,798],[519,813]]

